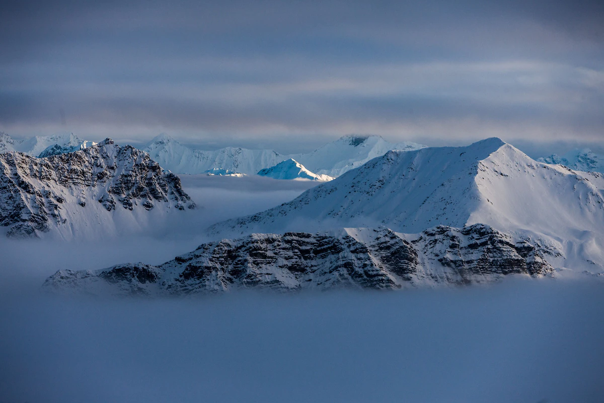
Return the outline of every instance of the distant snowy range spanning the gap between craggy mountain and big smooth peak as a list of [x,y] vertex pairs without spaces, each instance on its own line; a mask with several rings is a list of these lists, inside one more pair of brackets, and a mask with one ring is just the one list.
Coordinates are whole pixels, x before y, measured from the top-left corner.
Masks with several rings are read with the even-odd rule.
[[254,175],[281,161],[294,158],[310,171],[338,176],[388,150],[412,150],[425,146],[416,143],[392,144],[379,136],[345,136],[333,143],[305,154],[283,155],[274,150],[248,150],[226,147],[214,151],[182,146],[169,135],[155,137],[144,150],[165,169],[177,173],[204,173],[211,169],[225,169]]

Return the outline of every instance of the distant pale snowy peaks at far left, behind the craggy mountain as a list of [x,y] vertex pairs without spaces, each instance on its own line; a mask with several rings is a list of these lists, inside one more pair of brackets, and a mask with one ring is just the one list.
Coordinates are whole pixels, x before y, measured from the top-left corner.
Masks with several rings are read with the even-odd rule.
[[0,153],[19,151],[30,156],[50,156],[90,147],[96,143],[85,141],[71,132],[56,133],[51,136],[36,136],[27,140],[16,140],[0,132]]

